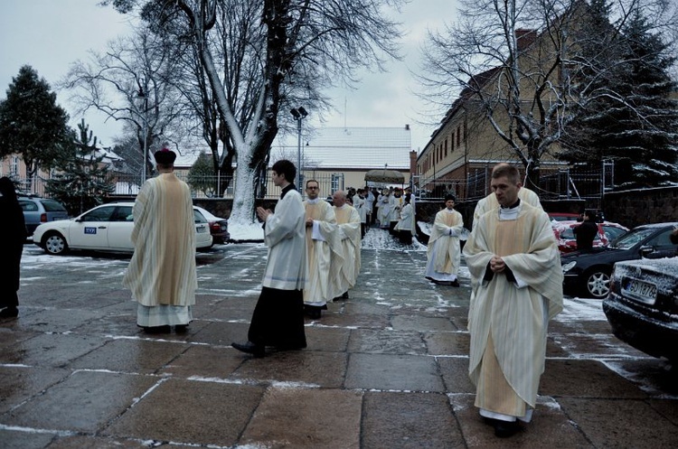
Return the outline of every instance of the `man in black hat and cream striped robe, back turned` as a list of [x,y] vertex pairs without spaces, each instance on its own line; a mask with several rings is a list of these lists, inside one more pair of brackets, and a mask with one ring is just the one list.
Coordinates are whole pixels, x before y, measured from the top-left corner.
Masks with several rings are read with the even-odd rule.
[[137,325],[145,332],[184,332],[193,320],[198,288],[191,189],[174,174],[176,154],[154,154],[157,177],[144,182],[132,208],[134,255],[123,285],[137,301]]

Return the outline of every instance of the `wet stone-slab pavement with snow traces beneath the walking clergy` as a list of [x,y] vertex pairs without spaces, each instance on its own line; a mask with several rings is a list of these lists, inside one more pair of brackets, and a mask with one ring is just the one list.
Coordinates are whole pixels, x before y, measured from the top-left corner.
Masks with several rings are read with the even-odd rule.
[[424,251],[385,246],[363,249],[348,300],[306,320],[306,350],[264,359],[230,346],[262,245],[199,254],[193,323],[158,335],[121,286],[129,257],[26,246],[20,316],[0,321],[0,448],[675,447],[678,377],[579,298],[551,323],[532,423],[496,438],[466,373],[467,271],[432,285]]

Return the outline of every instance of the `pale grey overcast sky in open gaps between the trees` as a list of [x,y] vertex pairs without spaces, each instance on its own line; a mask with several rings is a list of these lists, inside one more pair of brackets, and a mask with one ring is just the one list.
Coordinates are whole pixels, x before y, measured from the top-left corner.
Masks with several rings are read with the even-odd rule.
[[[108,41],[129,33],[127,17],[112,8],[97,6],[99,0],[0,0],[0,98],[19,69],[29,64],[52,89],[69,70],[73,61],[87,60],[89,50],[101,51]],[[456,14],[454,0],[412,0],[396,19],[404,23],[403,61],[388,64],[388,73],[364,73],[356,90],[329,92],[336,112],[325,126],[405,126],[412,129],[412,148],[423,149],[434,130],[421,126],[423,110],[413,91],[418,89],[410,70],[419,68],[419,42],[427,27],[438,28]],[[58,102],[71,115],[71,126],[82,117],[74,116],[65,92],[57,92]],[[345,114],[344,114],[345,110]],[[309,110],[309,120],[314,120]],[[99,136],[102,145],[111,145],[119,126],[105,117],[88,113],[85,121]],[[314,122],[314,125],[319,125]]]

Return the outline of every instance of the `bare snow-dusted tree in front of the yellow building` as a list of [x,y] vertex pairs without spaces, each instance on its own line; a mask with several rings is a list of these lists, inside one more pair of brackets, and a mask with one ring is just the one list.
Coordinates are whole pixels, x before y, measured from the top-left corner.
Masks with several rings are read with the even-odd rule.
[[[523,163],[527,184],[534,188],[539,184],[542,157],[554,152],[574,111],[581,110],[574,107],[599,95],[615,95],[589,89],[614,67],[589,64],[579,57],[580,40],[587,39],[582,17],[588,5],[582,0],[459,3],[457,22],[443,32],[429,33],[425,75],[420,77],[427,91],[424,97],[445,108],[449,98],[463,101],[476,114],[474,118],[489,123]],[[665,4],[664,0],[617,0],[607,48],[613,51],[613,34],[619,33],[632,11],[643,7],[658,13]],[[588,64],[587,77],[580,76],[584,64]],[[624,101],[622,96],[617,98]]]

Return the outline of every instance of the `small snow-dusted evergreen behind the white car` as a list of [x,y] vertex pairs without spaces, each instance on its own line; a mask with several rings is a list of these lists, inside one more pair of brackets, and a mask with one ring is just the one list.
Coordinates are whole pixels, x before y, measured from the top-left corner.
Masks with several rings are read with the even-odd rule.
[[97,137],[92,137],[84,119],[78,129],[78,138],[75,133],[71,134],[71,151],[61,154],[55,163],[59,174],[45,186],[46,192],[61,201],[73,215],[98,206],[113,192],[108,166],[102,164],[104,154],[97,148]]

